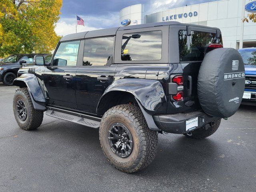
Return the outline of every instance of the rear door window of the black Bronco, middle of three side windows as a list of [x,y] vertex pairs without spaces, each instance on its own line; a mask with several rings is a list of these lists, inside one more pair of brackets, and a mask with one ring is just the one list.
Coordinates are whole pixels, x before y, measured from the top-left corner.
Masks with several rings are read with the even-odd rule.
[[114,37],[86,39],[83,66],[104,66],[113,55]]

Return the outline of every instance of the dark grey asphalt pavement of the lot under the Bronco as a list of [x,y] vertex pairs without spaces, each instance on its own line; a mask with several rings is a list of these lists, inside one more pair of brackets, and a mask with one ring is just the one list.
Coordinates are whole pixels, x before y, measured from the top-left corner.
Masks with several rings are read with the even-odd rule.
[[110,166],[98,130],[44,116],[24,131],[13,116],[16,87],[0,84],[0,191],[256,191],[256,107],[241,106],[204,140],[159,135],[150,166],[126,174]]

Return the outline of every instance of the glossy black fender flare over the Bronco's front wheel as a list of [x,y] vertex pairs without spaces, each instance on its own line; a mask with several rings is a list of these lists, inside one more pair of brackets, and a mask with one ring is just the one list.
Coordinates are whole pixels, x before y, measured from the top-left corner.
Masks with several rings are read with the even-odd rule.
[[13,81],[13,85],[24,87],[22,85],[26,84],[28,92],[30,94],[33,106],[36,110],[46,110],[46,100],[44,98],[44,93],[40,81],[35,74],[22,74]]

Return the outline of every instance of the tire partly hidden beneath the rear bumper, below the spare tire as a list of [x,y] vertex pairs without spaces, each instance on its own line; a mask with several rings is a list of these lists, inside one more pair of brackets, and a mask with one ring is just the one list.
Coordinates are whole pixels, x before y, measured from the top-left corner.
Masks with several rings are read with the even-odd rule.
[[215,120],[214,124],[212,126],[210,126],[208,129],[198,128],[198,129],[190,132],[189,134],[184,134],[184,135],[188,138],[193,138],[193,139],[206,138],[206,137],[211,136],[212,134],[214,134],[216,132],[216,130],[220,126],[220,121],[221,121],[221,119]]

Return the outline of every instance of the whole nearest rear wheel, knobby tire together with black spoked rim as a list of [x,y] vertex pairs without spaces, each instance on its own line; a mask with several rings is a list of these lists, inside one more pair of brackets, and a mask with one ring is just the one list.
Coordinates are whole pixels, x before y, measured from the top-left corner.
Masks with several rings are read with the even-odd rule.
[[157,132],[148,128],[142,111],[134,104],[110,108],[102,117],[99,133],[107,160],[118,170],[136,172],[156,156]]

